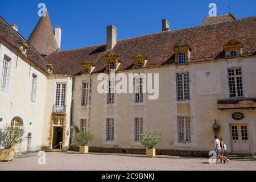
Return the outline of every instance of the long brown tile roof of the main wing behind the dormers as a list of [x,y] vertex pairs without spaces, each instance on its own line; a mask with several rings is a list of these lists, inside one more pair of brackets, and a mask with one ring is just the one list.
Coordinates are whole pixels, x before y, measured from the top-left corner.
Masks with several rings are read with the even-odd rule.
[[[132,57],[136,53],[148,58],[146,67],[174,63],[174,47],[180,41],[189,44],[192,62],[224,58],[223,46],[233,39],[243,44],[242,56],[253,55],[256,52],[256,16],[119,40],[113,51],[122,61],[118,70],[124,70],[133,68]],[[53,63],[56,74],[80,73],[80,64],[83,60],[92,61],[96,65],[93,73],[96,73],[105,70],[105,53],[106,44],[102,44],[53,52],[46,59]]]

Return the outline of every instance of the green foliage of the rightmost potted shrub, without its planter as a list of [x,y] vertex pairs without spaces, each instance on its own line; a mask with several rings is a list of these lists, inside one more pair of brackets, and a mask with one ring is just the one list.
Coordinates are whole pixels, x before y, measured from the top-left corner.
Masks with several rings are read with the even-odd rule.
[[141,139],[139,142],[141,142],[145,148],[151,149],[160,142],[161,135],[162,134],[158,131],[147,131],[146,133],[141,134]]

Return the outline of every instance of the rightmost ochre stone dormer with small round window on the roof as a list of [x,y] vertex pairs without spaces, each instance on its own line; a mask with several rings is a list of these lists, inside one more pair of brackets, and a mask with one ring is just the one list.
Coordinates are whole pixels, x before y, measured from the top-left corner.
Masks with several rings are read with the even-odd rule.
[[226,53],[226,58],[236,58],[242,54],[243,44],[237,40],[230,40],[224,45],[224,51]]

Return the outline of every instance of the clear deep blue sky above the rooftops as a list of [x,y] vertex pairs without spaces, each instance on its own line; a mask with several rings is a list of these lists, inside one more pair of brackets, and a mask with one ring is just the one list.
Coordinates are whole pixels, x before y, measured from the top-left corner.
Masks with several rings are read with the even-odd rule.
[[[105,43],[109,24],[117,27],[118,40],[159,32],[163,18],[173,30],[198,26],[209,3],[217,1],[0,0],[0,16],[17,24],[20,34],[28,39],[39,20],[40,2],[46,4],[52,26],[61,27],[61,49],[66,50]],[[256,15],[255,0],[218,0],[218,14],[229,13],[229,2],[236,18]]]

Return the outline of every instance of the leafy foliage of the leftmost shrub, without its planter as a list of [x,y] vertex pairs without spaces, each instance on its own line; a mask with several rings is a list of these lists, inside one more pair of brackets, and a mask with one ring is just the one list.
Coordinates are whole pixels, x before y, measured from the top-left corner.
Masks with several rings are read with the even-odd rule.
[[5,149],[12,149],[17,144],[22,142],[24,129],[14,129],[11,126],[6,126],[0,129],[0,146]]

